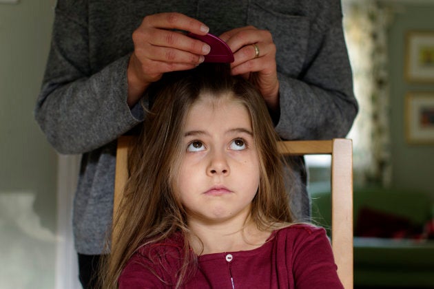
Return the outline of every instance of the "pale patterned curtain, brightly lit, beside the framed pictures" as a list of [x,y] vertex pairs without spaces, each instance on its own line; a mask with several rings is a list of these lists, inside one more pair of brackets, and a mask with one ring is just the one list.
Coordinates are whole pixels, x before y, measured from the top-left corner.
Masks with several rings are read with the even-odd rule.
[[344,34],[360,105],[353,139],[355,186],[391,183],[387,29],[391,9],[374,0],[343,0]]

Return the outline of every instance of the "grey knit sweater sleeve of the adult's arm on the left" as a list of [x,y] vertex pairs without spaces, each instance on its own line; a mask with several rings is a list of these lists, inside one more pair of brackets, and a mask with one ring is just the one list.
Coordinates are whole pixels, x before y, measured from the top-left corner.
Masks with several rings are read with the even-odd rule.
[[87,1],[58,1],[52,43],[34,115],[54,149],[85,153],[141,122],[127,105],[125,55],[92,71]]

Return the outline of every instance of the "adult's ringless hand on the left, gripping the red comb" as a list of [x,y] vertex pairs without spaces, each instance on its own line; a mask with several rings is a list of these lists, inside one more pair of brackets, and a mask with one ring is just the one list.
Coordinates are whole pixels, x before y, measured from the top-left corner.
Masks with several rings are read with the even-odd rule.
[[134,52],[128,63],[127,103],[134,105],[145,89],[163,73],[187,70],[204,61],[209,45],[174,30],[207,34],[209,28],[200,21],[172,12],[145,17],[133,32]]

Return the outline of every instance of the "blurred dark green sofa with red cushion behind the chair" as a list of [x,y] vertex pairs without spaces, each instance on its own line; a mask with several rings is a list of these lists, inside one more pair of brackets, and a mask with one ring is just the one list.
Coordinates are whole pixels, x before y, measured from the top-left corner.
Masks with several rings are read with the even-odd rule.
[[[311,197],[312,221],[329,228],[330,193]],[[433,200],[379,188],[355,189],[353,199],[355,288],[434,288],[434,236],[424,227]]]

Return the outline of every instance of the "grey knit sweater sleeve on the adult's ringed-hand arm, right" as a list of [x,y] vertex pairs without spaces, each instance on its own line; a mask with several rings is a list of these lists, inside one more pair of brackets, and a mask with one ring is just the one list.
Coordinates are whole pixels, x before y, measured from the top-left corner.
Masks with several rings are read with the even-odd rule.
[[321,7],[305,21],[306,31],[302,21],[298,22],[300,39],[296,43],[304,45],[300,71],[291,75],[282,67],[278,74],[280,116],[276,131],[284,139],[344,137],[358,113],[340,1],[320,1],[316,6]]

